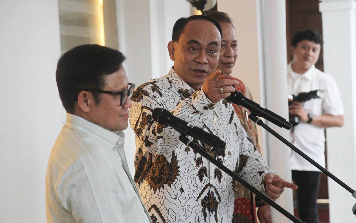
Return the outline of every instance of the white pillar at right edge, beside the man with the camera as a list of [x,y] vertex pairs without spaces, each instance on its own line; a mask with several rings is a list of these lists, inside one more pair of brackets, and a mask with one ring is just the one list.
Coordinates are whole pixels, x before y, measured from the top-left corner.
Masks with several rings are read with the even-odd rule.
[[[324,71],[333,75],[345,110],[342,128],[328,128],[328,170],[353,190],[356,188],[356,2],[328,0],[319,3],[323,20]],[[356,199],[328,179],[330,222],[355,222]]]

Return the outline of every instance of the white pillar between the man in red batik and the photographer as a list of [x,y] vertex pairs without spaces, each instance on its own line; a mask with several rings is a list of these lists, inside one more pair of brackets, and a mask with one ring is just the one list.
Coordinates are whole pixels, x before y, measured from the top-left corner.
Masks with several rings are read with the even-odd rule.
[[[288,119],[287,100],[287,48],[286,48],[286,4],[285,1],[261,2],[263,24],[263,59],[266,107]],[[263,92],[262,92],[263,94]],[[289,132],[272,123],[268,126],[282,137],[289,139]],[[291,182],[290,149],[276,137],[267,133],[268,161],[271,168],[284,180]],[[285,189],[277,203],[293,214],[293,193]],[[272,210],[274,222],[288,222],[281,213]]]

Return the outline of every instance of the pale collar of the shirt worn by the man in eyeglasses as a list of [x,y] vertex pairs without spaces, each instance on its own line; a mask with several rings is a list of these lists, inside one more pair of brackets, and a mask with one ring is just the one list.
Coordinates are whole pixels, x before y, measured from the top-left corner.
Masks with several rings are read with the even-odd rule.
[[89,122],[85,118],[79,117],[77,115],[72,115],[67,113],[67,127],[72,129],[78,129],[88,133],[95,139],[95,143],[100,144],[100,146],[108,147],[110,149],[114,148],[115,144],[123,144],[125,140],[125,134],[122,131],[111,132],[97,124]]

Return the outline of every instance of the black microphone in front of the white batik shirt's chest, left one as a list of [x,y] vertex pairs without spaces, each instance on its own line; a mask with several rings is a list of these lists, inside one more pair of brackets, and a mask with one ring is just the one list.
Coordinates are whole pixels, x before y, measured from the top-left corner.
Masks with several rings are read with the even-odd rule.
[[220,149],[225,148],[226,143],[219,137],[209,132],[205,132],[203,129],[197,126],[193,126],[192,124],[180,118],[177,118],[168,110],[163,108],[155,108],[152,112],[152,118],[160,124],[171,126],[184,136],[191,136],[213,147],[218,147]]

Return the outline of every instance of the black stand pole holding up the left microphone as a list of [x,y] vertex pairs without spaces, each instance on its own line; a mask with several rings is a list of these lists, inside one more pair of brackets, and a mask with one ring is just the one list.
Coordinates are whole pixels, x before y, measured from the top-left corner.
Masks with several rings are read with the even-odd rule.
[[200,155],[204,156],[207,160],[209,160],[211,163],[213,163],[215,166],[223,170],[226,174],[232,177],[232,179],[235,179],[237,182],[240,182],[242,185],[244,185],[248,190],[252,191],[257,195],[258,197],[262,198],[264,201],[266,201],[269,205],[272,207],[276,208],[277,211],[281,212],[284,216],[289,218],[292,222],[295,223],[302,223],[298,218],[294,217],[292,214],[290,214],[288,211],[283,209],[281,206],[279,206],[276,202],[273,202],[269,197],[261,193],[259,190],[257,190],[255,187],[251,186],[248,184],[245,180],[243,180],[240,176],[238,176],[235,172],[231,171],[228,169],[226,166],[221,164],[218,160],[214,159],[211,157],[208,153],[206,153],[204,150],[200,149],[197,147],[191,140],[189,140],[186,136],[183,134],[179,136],[179,140],[182,141],[185,145],[191,147],[195,152],[198,152]]

